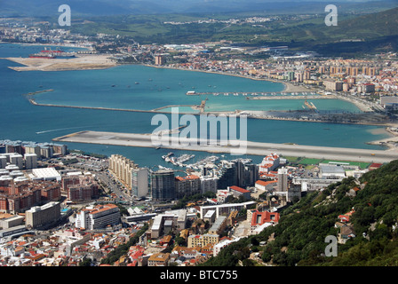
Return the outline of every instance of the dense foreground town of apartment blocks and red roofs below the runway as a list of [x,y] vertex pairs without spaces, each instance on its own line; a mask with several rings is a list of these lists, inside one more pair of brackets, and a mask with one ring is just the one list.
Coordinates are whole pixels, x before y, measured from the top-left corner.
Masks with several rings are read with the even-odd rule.
[[[160,159],[184,161],[184,170],[155,170],[55,143],[1,144],[4,266],[203,264],[277,224],[279,211],[302,196],[382,166],[279,154],[259,164],[217,156],[192,162],[169,153]],[[336,224],[341,242],[354,237],[349,217]],[[262,264],[256,251],[252,258]]]

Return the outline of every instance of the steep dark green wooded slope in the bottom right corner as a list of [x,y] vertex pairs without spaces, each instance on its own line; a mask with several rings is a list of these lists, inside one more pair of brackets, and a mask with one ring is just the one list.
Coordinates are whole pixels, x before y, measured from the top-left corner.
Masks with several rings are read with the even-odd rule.
[[[355,187],[356,196],[348,194]],[[338,216],[352,209],[348,225],[355,237],[338,244],[338,256],[325,256],[329,244],[325,237],[339,237]],[[230,245],[204,265],[257,264],[248,259],[253,251],[273,265],[397,265],[397,217],[398,161],[394,161],[359,180],[348,177],[320,193],[307,194],[282,212],[279,224]],[[261,241],[267,244],[259,246]]]

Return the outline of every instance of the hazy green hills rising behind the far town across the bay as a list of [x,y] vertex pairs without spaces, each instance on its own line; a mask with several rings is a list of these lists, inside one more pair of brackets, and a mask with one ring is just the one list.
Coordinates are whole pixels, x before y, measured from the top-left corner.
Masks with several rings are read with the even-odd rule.
[[[264,25],[230,25],[227,23],[190,22],[195,20],[230,18],[242,19],[251,16],[266,16],[267,12],[235,13],[179,13],[157,15],[117,15],[92,17],[89,21],[75,18],[72,31],[95,36],[105,33],[131,36],[139,43],[201,43],[230,40],[239,45],[275,46],[288,45],[296,51],[318,51],[324,56],[352,57],[369,52],[396,51],[398,47],[398,8],[379,12],[362,11],[362,15],[346,6],[338,5],[338,26],[328,27],[324,23],[327,12],[324,4],[297,7],[298,15],[288,16],[288,10],[279,10],[279,20]],[[367,5],[364,5],[367,7]],[[371,5],[370,5],[371,6]],[[316,8],[316,9],[315,9]],[[359,8],[355,6],[358,10]],[[283,14],[286,12],[285,14]],[[277,13],[275,11],[275,13]],[[187,21],[182,25],[171,25],[168,21]]]

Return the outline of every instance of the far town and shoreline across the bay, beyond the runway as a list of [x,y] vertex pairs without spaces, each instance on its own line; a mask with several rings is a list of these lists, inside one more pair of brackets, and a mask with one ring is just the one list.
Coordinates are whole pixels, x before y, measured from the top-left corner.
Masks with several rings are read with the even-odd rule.
[[[252,118],[272,120],[385,125],[391,133],[396,130],[398,61],[394,52],[379,53],[366,59],[330,59],[313,51],[293,51],[289,46],[242,47],[235,46],[230,41],[139,44],[132,39],[125,39],[123,42],[121,36],[81,36],[64,29],[49,29],[44,32],[35,26],[20,26],[0,26],[0,40],[4,43],[40,43],[44,46],[52,44],[55,46],[53,48],[83,47],[85,50],[76,51],[75,56],[68,59],[7,58],[24,65],[10,67],[16,71],[65,71],[142,64],[243,76],[253,80],[283,83],[285,86],[278,93],[244,94],[247,96],[245,99],[311,99],[310,103],[308,106],[303,105],[302,111],[243,109],[227,114],[246,114]],[[118,45],[115,45],[116,39]],[[219,95],[219,92],[214,91],[212,94]],[[225,92],[221,94],[229,95]],[[230,92],[231,96],[234,94],[233,91]],[[357,106],[360,112],[320,113],[316,110],[314,99],[346,100]]]

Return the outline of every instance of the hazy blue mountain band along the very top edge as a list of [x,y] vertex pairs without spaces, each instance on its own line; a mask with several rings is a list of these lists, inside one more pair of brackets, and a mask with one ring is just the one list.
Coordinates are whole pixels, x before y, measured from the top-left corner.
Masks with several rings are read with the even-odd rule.
[[[330,4],[329,0],[0,0],[0,16],[57,16],[58,7],[68,4],[75,15],[100,16],[117,14],[158,14],[190,12],[314,12],[314,7]],[[392,8],[398,0],[354,1],[336,3],[350,7]]]

